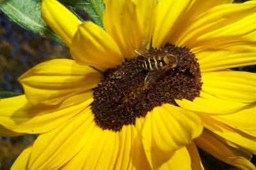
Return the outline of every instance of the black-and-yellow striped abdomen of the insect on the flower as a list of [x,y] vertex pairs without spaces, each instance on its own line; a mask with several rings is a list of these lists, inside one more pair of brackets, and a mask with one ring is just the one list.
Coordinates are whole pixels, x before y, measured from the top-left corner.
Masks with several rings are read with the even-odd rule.
[[160,57],[148,58],[142,65],[145,70],[159,70],[166,66],[168,65],[164,62],[164,58]]

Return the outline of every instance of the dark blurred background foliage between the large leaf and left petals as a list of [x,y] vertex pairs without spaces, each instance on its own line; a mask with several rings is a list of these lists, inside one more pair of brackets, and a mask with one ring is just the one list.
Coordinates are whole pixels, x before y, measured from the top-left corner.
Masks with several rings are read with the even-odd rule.
[[0,91],[23,93],[20,75],[56,58],[71,59],[68,47],[26,31],[0,12]]

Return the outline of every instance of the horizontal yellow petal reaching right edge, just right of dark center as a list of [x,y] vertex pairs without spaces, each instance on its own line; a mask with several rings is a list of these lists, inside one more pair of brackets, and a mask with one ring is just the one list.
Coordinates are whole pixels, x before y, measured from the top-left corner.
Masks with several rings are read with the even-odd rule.
[[223,100],[256,101],[256,73],[223,71],[202,73],[202,91]]

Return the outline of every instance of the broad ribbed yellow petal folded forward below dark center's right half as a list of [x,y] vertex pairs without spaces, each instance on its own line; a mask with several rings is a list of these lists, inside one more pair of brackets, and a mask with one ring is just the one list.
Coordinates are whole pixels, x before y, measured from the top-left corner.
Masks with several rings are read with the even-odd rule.
[[[174,105],[164,104],[148,112],[143,125],[142,141],[152,167],[161,166],[169,160],[172,157],[170,152],[191,143],[201,134],[202,129],[201,120],[196,114]],[[157,155],[163,155],[163,160],[158,163]]]

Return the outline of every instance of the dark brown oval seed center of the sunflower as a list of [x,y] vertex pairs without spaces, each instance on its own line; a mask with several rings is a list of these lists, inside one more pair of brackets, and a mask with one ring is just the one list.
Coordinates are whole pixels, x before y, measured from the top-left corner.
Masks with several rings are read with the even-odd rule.
[[[195,54],[175,45],[165,45],[154,52],[175,56],[177,63],[146,69],[144,63],[148,59],[140,56],[104,73],[102,83],[93,89],[91,104],[95,123],[101,128],[120,131],[124,125],[135,125],[136,118],[146,116],[154,107],[177,105],[175,99],[193,101],[199,97],[202,82]],[[158,60],[154,58],[149,65],[157,65]],[[157,78],[145,84],[148,74]]]

